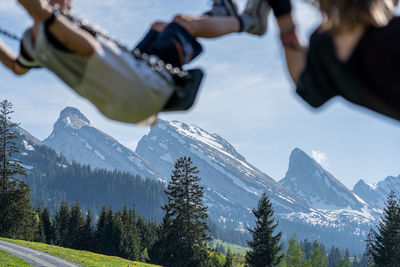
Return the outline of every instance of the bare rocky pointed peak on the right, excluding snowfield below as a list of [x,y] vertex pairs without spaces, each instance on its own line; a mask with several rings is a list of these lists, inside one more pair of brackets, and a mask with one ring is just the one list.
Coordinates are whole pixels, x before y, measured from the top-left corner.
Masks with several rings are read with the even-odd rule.
[[291,153],[289,169],[279,183],[300,195],[314,209],[360,210],[366,205],[364,200],[298,148]]

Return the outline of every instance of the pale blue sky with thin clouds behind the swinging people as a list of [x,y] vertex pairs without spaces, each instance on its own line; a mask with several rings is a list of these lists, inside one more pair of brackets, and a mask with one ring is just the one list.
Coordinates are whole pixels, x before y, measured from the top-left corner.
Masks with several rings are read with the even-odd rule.
[[[133,46],[154,20],[177,13],[198,15],[208,0],[79,0],[75,12],[96,22],[112,36]],[[238,1],[243,8],[244,1]],[[297,1],[296,19],[302,39],[313,31],[319,16]],[[29,17],[16,1],[0,2],[0,27],[22,34]],[[359,180],[376,182],[400,174],[400,123],[334,99],[319,110],[308,107],[294,93],[288,78],[278,31],[270,18],[262,38],[234,34],[202,40],[205,53],[192,63],[207,76],[194,109],[161,115],[215,132],[233,144],[246,159],[275,180],[284,177],[290,152],[298,147],[320,161],[352,189]],[[18,45],[2,38],[18,50]],[[47,71],[15,77],[0,67],[1,99],[14,103],[15,121],[39,139],[50,135],[65,106],[79,108],[92,125],[134,149],[148,127],[104,118]]]

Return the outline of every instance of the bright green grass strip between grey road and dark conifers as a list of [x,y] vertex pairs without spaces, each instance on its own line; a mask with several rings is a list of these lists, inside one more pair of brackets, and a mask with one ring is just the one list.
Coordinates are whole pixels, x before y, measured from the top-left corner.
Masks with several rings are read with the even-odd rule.
[[[78,263],[83,266],[110,266],[110,267],[119,267],[119,266],[139,266],[139,267],[147,267],[147,266],[155,266],[151,264],[146,264],[146,263],[141,263],[141,262],[135,262],[135,261],[129,261],[125,260],[119,257],[112,257],[112,256],[106,256],[106,255],[101,255],[93,252],[88,252],[88,251],[81,251],[81,250],[74,250],[74,249],[69,249],[69,248],[62,248],[62,247],[57,247],[57,246],[52,246],[52,245],[47,245],[47,244],[42,244],[42,243],[35,243],[35,242],[28,242],[28,241],[22,241],[22,240],[14,240],[14,239],[7,239],[7,238],[0,238],[0,240],[10,242],[10,243],[15,243],[24,247],[36,249],[39,251],[46,252],[50,255],[57,256],[59,258],[65,259],[70,262]],[[1,263],[1,262],[0,262]],[[0,266],[2,266],[0,264]],[[19,265],[17,265],[19,266]],[[29,266],[29,265],[28,265]]]

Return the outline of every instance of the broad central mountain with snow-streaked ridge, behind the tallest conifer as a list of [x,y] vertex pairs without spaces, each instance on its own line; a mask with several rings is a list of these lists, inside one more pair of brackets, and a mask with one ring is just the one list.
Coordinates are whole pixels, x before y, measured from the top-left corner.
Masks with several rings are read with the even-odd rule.
[[278,212],[309,208],[302,198],[248,163],[226,140],[195,125],[159,121],[139,141],[136,153],[166,179],[176,159],[191,157],[200,171],[200,183],[206,188],[205,202],[211,218],[227,227],[250,224],[250,210],[263,192],[268,193]]

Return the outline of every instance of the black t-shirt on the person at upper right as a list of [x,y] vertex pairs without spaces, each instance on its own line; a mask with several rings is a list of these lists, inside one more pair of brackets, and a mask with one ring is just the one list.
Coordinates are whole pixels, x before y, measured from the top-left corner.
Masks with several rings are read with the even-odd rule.
[[313,107],[334,96],[400,120],[400,18],[369,27],[346,62],[329,33],[313,33],[297,93]]

